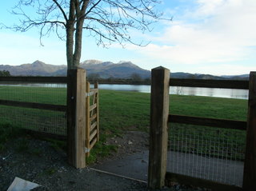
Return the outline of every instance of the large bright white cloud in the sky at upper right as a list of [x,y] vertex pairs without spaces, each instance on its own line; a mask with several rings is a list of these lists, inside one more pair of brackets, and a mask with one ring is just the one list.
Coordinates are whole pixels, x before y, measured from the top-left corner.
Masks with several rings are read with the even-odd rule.
[[149,46],[127,48],[162,62],[206,66],[216,62],[243,63],[255,54],[252,49],[256,46],[255,0],[198,0],[197,3],[196,9],[181,17],[184,20],[172,22],[164,34],[152,37]]

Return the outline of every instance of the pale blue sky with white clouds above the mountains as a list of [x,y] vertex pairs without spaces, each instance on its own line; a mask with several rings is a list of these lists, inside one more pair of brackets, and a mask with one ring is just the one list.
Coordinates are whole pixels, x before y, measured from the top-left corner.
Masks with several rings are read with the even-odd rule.
[[[0,23],[13,25],[10,14],[15,0],[3,1]],[[256,71],[255,0],[162,0],[158,10],[171,22],[160,21],[153,31],[133,31],[134,40],[149,42],[140,47],[113,43],[97,46],[94,38],[82,39],[81,61],[133,62],[143,69],[164,66],[171,72],[238,75]],[[39,41],[38,30],[26,33],[0,29],[0,65],[17,66],[36,60],[66,65],[66,42],[55,34]]]

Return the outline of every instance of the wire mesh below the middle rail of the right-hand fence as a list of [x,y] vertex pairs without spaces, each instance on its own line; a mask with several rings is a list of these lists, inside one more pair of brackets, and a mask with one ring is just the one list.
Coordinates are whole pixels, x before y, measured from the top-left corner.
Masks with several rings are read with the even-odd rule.
[[170,124],[167,169],[242,186],[246,131]]

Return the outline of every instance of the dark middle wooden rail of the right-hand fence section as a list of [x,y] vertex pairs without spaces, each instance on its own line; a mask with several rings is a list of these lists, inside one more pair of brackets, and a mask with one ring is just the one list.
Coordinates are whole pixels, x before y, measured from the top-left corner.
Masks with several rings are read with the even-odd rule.
[[172,115],[169,114],[169,122],[173,123],[182,123],[189,125],[204,125],[211,127],[219,127],[225,129],[239,129],[246,130],[247,122],[246,121],[233,121],[227,119],[215,119],[215,118],[206,118],[206,117],[191,117],[184,115]]

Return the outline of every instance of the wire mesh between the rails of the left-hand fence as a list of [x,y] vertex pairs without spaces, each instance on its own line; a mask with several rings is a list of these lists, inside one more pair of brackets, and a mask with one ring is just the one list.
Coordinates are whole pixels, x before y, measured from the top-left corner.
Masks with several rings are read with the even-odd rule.
[[[66,83],[0,82],[0,100],[66,105]],[[0,123],[66,135],[63,111],[0,105]]]

